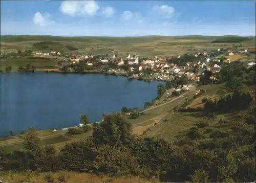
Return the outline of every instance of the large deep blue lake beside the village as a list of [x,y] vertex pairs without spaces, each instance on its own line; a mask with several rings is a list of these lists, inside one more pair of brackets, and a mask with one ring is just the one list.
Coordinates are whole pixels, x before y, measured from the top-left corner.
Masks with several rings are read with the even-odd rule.
[[144,107],[157,96],[161,81],[128,81],[101,74],[1,74],[1,137],[29,127],[53,129],[76,126],[81,114],[90,122],[122,106]]

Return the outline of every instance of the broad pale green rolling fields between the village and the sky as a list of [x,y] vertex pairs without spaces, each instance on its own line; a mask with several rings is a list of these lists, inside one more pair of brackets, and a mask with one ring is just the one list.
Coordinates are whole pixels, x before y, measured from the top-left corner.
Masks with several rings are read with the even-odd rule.
[[[230,36],[229,36],[230,37]],[[141,36],[141,37],[58,37],[58,36],[1,36],[1,50],[50,51],[51,49],[63,52],[82,54],[112,55],[118,52],[117,57],[125,54],[137,54],[139,57],[153,57],[156,55],[171,56],[195,51],[217,50],[222,47],[232,47],[240,42],[224,42],[216,36]],[[225,38],[225,37],[224,37]],[[48,41],[47,45],[42,41]],[[50,42],[52,41],[52,42]],[[241,39],[242,48],[255,47],[255,40]]]

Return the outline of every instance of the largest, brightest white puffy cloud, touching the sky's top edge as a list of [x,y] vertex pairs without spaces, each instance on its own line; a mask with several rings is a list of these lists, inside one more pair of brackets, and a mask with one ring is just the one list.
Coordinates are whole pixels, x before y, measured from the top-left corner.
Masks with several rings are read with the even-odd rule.
[[98,9],[96,1],[63,1],[60,5],[60,11],[70,16],[93,16]]

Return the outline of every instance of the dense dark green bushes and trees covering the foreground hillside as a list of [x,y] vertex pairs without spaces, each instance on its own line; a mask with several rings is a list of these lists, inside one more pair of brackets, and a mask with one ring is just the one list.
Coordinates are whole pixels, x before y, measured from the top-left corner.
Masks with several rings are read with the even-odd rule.
[[[239,130],[216,130],[207,128],[208,121],[199,122],[199,129],[190,128],[180,139],[182,143],[133,135],[131,124],[121,113],[104,115],[103,122],[93,124],[92,136],[66,144],[59,152],[52,146],[41,147],[34,131],[29,130],[25,144],[30,142],[32,146],[12,153],[1,150],[0,166],[4,171],[67,170],[156,176],[160,181],[172,182],[251,182],[255,177],[255,123],[247,118],[253,117],[252,110],[230,122]],[[37,148],[40,150],[34,153]],[[51,178],[47,175],[45,180],[54,181]],[[60,182],[67,179],[64,175],[58,177]]]

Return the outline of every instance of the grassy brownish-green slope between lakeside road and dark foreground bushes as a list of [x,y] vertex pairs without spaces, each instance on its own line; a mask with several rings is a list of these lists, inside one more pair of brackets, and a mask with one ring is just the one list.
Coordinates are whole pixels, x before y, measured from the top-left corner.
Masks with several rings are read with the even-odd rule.
[[[220,97],[219,93],[223,84],[220,85],[205,85],[200,86],[197,89],[205,89],[206,93],[198,98],[194,99],[191,105],[202,106],[202,99],[204,97],[213,98]],[[150,114],[145,115],[144,118],[139,118],[136,120],[131,120],[134,126],[134,132],[137,134],[142,134],[144,136],[155,136],[158,138],[164,138],[167,141],[174,141],[180,133],[188,130],[189,128],[195,126],[200,120],[203,120],[201,116],[198,116],[196,112],[174,112],[172,109],[175,106],[180,105],[185,99],[192,98],[194,92],[190,92],[182,99],[177,100],[170,105],[166,104],[165,107],[152,109],[148,111]],[[188,105],[188,106],[189,106]],[[146,112],[145,112],[146,113]],[[225,116],[218,116],[218,119],[224,119]]]

